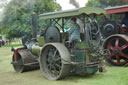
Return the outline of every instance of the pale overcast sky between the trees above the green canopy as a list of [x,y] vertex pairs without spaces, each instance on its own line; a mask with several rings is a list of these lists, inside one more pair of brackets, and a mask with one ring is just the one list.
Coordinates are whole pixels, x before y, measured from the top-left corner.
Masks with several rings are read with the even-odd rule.
[[[73,9],[75,8],[73,5],[69,4],[69,0],[56,0],[62,7],[62,10]],[[84,7],[88,0],[76,0],[80,7]]]

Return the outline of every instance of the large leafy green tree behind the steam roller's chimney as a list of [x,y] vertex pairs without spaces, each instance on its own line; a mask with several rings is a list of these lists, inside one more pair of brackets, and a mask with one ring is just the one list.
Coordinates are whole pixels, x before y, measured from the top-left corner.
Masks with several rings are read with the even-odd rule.
[[31,13],[38,15],[60,9],[55,0],[11,0],[5,6],[0,33],[7,34],[9,39],[31,36]]

